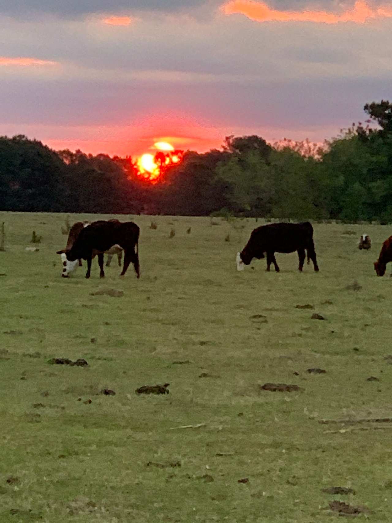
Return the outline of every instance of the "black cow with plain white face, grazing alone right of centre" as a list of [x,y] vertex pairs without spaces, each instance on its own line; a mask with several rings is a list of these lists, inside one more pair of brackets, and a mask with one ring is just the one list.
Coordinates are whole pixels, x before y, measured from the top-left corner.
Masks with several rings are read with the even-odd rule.
[[299,258],[298,269],[302,271],[305,261],[305,249],[309,259],[313,261],[315,271],[318,271],[315,245],[313,243],[313,227],[309,222],[303,223],[271,223],[262,225],[253,230],[244,249],[237,253],[237,270],[243,270],[253,258],[264,258],[267,254],[267,270],[271,263],[275,271],[279,272],[275,253],[293,253],[297,251]]

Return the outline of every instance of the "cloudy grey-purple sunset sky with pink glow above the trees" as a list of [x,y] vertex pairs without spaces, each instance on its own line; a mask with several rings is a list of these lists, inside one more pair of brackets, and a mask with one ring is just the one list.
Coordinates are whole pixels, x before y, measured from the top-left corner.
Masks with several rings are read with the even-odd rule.
[[0,0],[0,135],[53,149],[322,142],[392,99],[392,1]]

